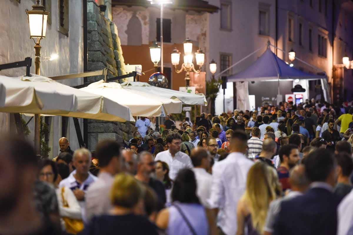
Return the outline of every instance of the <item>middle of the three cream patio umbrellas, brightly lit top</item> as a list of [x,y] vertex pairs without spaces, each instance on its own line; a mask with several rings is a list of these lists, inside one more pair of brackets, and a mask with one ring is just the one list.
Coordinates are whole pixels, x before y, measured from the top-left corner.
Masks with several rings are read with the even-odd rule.
[[117,82],[94,82],[80,90],[103,95],[130,108],[133,116],[156,117],[162,109],[169,113],[181,113],[182,103],[179,100],[122,88]]

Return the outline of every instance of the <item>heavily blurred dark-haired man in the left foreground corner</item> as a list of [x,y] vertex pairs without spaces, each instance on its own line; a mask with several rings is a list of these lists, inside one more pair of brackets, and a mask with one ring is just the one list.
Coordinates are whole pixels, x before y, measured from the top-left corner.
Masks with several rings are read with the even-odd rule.
[[19,137],[3,136],[0,147],[0,234],[60,234],[60,227],[41,217],[34,206],[38,169],[32,146]]

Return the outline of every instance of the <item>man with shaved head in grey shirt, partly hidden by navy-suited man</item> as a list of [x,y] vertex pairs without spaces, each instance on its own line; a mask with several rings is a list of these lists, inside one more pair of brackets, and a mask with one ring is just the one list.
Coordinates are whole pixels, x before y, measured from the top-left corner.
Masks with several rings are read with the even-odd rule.
[[292,190],[285,197],[271,202],[269,206],[264,226],[264,235],[271,235],[273,233],[276,216],[281,210],[281,202],[303,195],[309,187],[310,182],[305,177],[305,167],[303,164],[293,167],[289,174],[289,182],[291,183]]

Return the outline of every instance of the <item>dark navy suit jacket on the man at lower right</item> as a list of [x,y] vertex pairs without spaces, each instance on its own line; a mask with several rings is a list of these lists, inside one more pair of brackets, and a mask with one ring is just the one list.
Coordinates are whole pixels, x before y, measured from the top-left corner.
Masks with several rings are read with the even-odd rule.
[[273,235],[336,235],[339,198],[325,188],[281,203]]

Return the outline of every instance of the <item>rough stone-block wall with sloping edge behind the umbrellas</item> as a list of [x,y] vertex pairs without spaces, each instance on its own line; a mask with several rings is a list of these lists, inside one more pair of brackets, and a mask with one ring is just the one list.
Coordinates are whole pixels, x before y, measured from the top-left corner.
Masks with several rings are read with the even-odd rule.
[[[116,25],[104,17],[95,1],[87,1],[88,31],[88,70],[108,68],[108,77],[124,75],[125,63]],[[89,82],[104,79],[104,76],[92,76]],[[93,150],[98,141],[113,139],[121,142],[133,137],[134,123],[88,121],[88,148]]]

